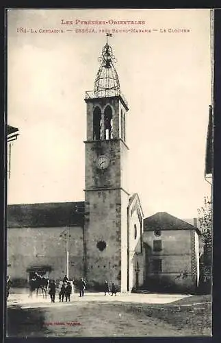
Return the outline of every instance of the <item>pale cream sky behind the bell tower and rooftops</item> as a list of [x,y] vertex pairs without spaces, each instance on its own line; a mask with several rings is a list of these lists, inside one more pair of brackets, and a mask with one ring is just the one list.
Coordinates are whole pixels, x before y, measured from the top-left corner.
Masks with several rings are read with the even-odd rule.
[[[204,179],[209,15],[207,9],[9,10],[8,124],[20,135],[12,146],[8,204],[84,199],[84,95],[99,69],[106,43],[102,29],[109,29],[120,89],[129,103],[129,192],[139,194],[145,217],[158,211],[196,217],[210,194]],[[86,28],[96,33],[79,32]]]

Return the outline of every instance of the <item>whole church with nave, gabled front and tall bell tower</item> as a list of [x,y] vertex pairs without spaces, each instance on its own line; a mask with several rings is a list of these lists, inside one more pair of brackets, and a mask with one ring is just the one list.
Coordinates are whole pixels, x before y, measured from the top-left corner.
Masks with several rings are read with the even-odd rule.
[[127,186],[129,107],[108,42],[99,60],[94,89],[85,97],[85,202],[8,206],[8,273],[12,278],[29,279],[29,273],[39,268],[60,278],[66,271],[64,232],[70,236],[70,276],[84,276],[92,287],[108,280],[121,292],[143,283],[144,273],[137,266],[143,265],[144,213],[138,194],[130,196]]

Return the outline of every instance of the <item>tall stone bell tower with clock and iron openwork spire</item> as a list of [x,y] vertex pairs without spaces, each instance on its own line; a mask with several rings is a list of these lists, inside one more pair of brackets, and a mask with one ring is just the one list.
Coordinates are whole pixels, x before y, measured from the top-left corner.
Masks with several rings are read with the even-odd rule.
[[[108,35],[107,35],[108,36]],[[127,101],[108,41],[99,57],[94,90],[87,91],[85,143],[85,272],[90,285],[104,280],[127,291]]]

